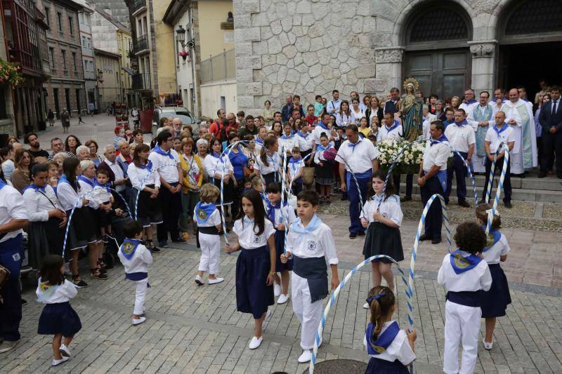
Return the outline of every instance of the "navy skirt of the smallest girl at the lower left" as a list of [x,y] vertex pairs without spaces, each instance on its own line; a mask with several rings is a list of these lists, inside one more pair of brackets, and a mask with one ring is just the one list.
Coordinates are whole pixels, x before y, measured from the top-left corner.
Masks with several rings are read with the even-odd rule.
[[80,317],[72,309],[70,302],[58,302],[45,305],[39,316],[37,333],[41,335],[63,334],[65,338],[70,338],[81,328]]

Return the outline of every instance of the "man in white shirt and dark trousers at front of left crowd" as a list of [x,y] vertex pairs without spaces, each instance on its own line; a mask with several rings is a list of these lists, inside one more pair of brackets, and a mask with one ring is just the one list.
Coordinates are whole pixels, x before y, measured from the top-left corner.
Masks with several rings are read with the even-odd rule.
[[173,138],[169,131],[162,131],[158,134],[157,145],[148,160],[152,161],[152,168],[157,169],[160,175],[160,193],[158,198],[162,206],[162,218],[164,222],[158,224],[158,242],[162,248],[168,246],[168,232],[171,241],[174,243],[185,243],[185,239],[180,236],[178,229],[178,219],[181,211],[181,183],[180,158],[178,153],[171,149],[174,145]]

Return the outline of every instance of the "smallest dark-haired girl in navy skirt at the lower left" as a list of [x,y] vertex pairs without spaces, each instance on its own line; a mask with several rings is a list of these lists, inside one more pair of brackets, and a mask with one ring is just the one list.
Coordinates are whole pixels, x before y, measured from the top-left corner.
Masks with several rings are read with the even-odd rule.
[[54,335],[54,358],[51,365],[58,366],[70,359],[68,346],[82,328],[80,317],[70,306],[70,299],[74,298],[78,291],[73,283],[65,279],[65,260],[60,255],[47,255],[39,274],[41,276],[35,293],[37,301],[46,305],[39,316],[37,333]]

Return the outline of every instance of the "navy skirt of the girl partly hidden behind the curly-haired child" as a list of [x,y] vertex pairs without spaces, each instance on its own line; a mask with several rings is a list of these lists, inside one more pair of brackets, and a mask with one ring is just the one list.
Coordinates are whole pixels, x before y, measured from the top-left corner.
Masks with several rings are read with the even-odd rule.
[[499,264],[488,264],[492,274],[490,290],[481,292],[482,318],[505,316],[507,305],[511,304],[509,286],[504,270]]

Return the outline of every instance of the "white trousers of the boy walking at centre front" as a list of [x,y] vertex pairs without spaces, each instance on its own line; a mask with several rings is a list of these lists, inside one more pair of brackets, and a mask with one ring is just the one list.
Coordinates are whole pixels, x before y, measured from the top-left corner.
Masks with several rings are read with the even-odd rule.
[[313,349],[318,325],[322,319],[322,300],[311,302],[311,290],[306,278],[291,273],[293,310],[301,323],[301,347]]

